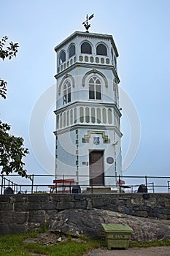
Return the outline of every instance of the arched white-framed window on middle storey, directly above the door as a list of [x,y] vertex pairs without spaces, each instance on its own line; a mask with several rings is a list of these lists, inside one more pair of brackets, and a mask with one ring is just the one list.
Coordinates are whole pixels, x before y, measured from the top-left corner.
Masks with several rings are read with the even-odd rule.
[[89,99],[101,99],[101,81],[96,76],[89,80]]

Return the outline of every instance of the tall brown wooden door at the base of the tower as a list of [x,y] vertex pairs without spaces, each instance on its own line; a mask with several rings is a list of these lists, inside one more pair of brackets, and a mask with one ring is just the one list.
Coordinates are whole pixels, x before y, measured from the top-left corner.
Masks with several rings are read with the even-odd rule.
[[104,186],[104,151],[89,154],[90,186]]

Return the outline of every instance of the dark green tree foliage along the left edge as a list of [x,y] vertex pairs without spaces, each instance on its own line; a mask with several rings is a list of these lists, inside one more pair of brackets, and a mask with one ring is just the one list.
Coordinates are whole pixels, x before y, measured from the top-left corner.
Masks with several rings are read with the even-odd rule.
[[[0,40],[0,59],[12,59],[18,53],[18,43],[9,42],[8,37]],[[7,82],[0,78],[0,96],[6,99]],[[23,146],[23,138],[9,134],[10,126],[0,120],[0,167],[1,174],[18,173],[22,177],[30,178],[24,170],[23,157],[28,154],[28,148]]]

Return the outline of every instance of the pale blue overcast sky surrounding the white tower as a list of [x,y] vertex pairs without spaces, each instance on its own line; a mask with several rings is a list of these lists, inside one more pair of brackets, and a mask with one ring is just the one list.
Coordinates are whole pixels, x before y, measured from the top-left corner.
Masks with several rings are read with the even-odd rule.
[[[11,124],[12,134],[24,138],[30,151],[25,159],[28,173],[55,172],[53,97],[48,99],[49,109],[42,129],[50,157],[49,152],[45,153],[42,141],[34,141],[36,147],[39,146],[38,157],[31,148],[31,113],[39,97],[42,99],[55,84],[53,49],[74,31],[85,31],[82,22],[87,13],[94,13],[90,32],[112,34],[120,55],[117,60],[120,86],[134,102],[141,124],[139,150],[123,174],[169,176],[169,10],[169,0],[1,1],[0,37],[7,35],[9,40],[18,42],[20,48],[17,58],[0,63],[0,77],[8,82],[7,99],[0,99],[0,118]],[[122,113],[125,159],[134,135],[131,135],[125,109]],[[34,121],[35,134],[38,134],[36,127],[39,124],[36,124],[35,116],[31,121]],[[47,162],[47,168],[41,164],[41,158]]]

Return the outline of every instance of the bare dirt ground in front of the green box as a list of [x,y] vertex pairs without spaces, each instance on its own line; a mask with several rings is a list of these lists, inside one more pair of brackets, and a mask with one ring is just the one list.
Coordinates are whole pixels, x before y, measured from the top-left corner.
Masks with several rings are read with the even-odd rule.
[[84,256],[170,256],[170,246],[129,248],[128,250],[99,248]]

